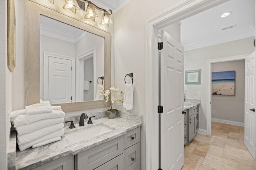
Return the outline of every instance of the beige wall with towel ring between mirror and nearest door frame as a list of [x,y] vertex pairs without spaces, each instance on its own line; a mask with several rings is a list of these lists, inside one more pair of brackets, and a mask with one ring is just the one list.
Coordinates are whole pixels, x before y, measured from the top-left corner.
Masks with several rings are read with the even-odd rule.
[[[160,0],[157,3],[153,0],[131,0],[114,15],[114,84],[124,90],[124,76],[133,72],[134,102],[129,112],[141,114],[144,118],[141,131],[142,170],[146,169],[146,21],[182,2],[184,0]],[[122,106],[117,109],[125,111]]]

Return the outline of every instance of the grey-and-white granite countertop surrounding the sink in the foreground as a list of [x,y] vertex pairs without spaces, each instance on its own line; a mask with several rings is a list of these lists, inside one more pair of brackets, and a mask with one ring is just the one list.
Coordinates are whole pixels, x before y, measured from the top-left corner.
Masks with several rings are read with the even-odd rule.
[[[85,150],[91,149],[97,145],[120,137],[137,127],[142,126],[142,115],[133,115],[132,119],[125,119],[121,117],[116,117],[115,119],[96,119],[92,120],[93,124],[79,127],[78,124],[75,125],[75,129],[69,129],[64,127],[65,134],[71,133],[72,131],[78,131],[80,129],[86,129],[89,126],[96,126],[98,124],[103,124],[108,127],[112,127],[114,130],[98,135],[91,139],[86,139],[78,143],[70,143],[65,136],[62,136],[60,141],[50,143],[38,148],[29,148],[24,151],[16,151],[16,170],[28,170],[46,164],[68,154],[78,154],[84,152]],[[64,135],[65,135],[64,134]]]

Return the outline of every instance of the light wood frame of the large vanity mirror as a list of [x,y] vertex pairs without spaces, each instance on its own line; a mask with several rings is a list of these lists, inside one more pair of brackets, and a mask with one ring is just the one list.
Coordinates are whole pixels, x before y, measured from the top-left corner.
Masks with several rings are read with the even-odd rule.
[[[36,1],[36,0],[33,0]],[[40,96],[40,88],[42,89],[42,83],[40,84],[40,66],[42,67],[42,51],[40,51],[40,18],[42,16],[51,18],[68,25],[72,25],[80,30],[87,31],[93,35],[98,35],[104,39],[104,88],[110,88],[111,82],[111,66],[110,66],[110,33],[97,27],[93,27],[72,18],[66,14],[62,14],[60,11],[56,11],[36,2],[30,0],[26,4],[26,29],[25,29],[25,105],[31,105],[38,103],[40,99],[45,100]],[[41,64],[40,64],[41,63]],[[74,63],[73,63],[74,64]],[[77,71],[76,71],[77,72]],[[102,73],[103,74],[103,73]],[[97,83],[98,77],[94,77],[93,82]],[[73,76],[74,79],[74,76]],[[77,87],[77,85],[75,85]],[[94,90],[95,91],[95,90]],[[95,93],[95,92],[94,92]],[[41,93],[42,94],[42,93]],[[75,100],[73,100],[75,101]],[[92,109],[97,107],[108,107],[110,102],[105,103],[105,100],[90,100],[86,102],[70,102],[70,103],[58,103],[52,104],[55,106],[61,106],[63,111],[78,111],[83,109]]]

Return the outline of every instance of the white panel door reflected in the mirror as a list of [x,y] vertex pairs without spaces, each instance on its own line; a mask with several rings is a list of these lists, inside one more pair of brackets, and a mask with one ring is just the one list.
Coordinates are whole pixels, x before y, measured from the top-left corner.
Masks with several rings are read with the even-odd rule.
[[49,57],[48,100],[51,104],[72,102],[72,61]]

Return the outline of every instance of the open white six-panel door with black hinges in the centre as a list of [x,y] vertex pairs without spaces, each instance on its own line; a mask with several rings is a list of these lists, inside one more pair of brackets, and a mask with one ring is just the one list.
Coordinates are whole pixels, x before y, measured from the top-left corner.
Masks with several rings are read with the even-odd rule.
[[161,168],[178,170],[184,164],[184,53],[183,47],[161,31]]

